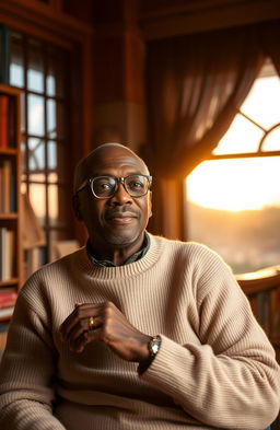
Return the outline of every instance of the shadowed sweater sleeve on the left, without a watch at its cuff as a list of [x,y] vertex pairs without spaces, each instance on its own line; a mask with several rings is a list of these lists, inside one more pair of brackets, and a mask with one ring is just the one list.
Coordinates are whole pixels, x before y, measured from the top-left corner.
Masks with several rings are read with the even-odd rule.
[[66,430],[52,415],[55,349],[47,321],[20,294],[0,367],[0,428]]

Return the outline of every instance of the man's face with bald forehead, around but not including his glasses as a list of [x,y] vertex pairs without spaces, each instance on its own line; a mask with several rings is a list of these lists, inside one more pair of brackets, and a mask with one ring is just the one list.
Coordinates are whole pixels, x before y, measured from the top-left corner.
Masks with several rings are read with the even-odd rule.
[[[86,177],[149,174],[144,163],[125,148],[110,147],[97,152],[86,167]],[[106,199],[93,196],[90,186],[79,195],[80,218],[85,223],[94,248],[116,249],[141,246],[151,217],[151,194],[131,197],[122,184]]]

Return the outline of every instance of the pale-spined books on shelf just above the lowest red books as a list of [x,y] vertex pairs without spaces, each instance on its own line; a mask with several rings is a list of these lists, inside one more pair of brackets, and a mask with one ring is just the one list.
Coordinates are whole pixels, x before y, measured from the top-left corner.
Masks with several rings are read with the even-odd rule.
[[15,234],[5,226],[0,228],[0,281],[7,281],[14,275]]

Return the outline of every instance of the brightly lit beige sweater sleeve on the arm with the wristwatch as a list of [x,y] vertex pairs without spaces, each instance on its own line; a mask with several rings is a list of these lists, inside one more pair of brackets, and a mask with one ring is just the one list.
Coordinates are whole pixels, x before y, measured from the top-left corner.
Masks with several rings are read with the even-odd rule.
[[140,377],[205,425],[264,429],[279,411],[275,351],[231,270],[214,253],[205,253],[192,272],[200,345],[162,335],[160,351]]

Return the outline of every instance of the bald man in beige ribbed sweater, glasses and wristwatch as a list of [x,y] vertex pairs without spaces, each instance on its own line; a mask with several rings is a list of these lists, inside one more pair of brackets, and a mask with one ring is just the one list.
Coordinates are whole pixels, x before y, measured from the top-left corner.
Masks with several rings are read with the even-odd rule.
[[89,241],[21,290],[1,429],[259,430],[277,416],[279,367],[248,301],[213,252],[147,233],[151,181],[116,143],[78,165]]

